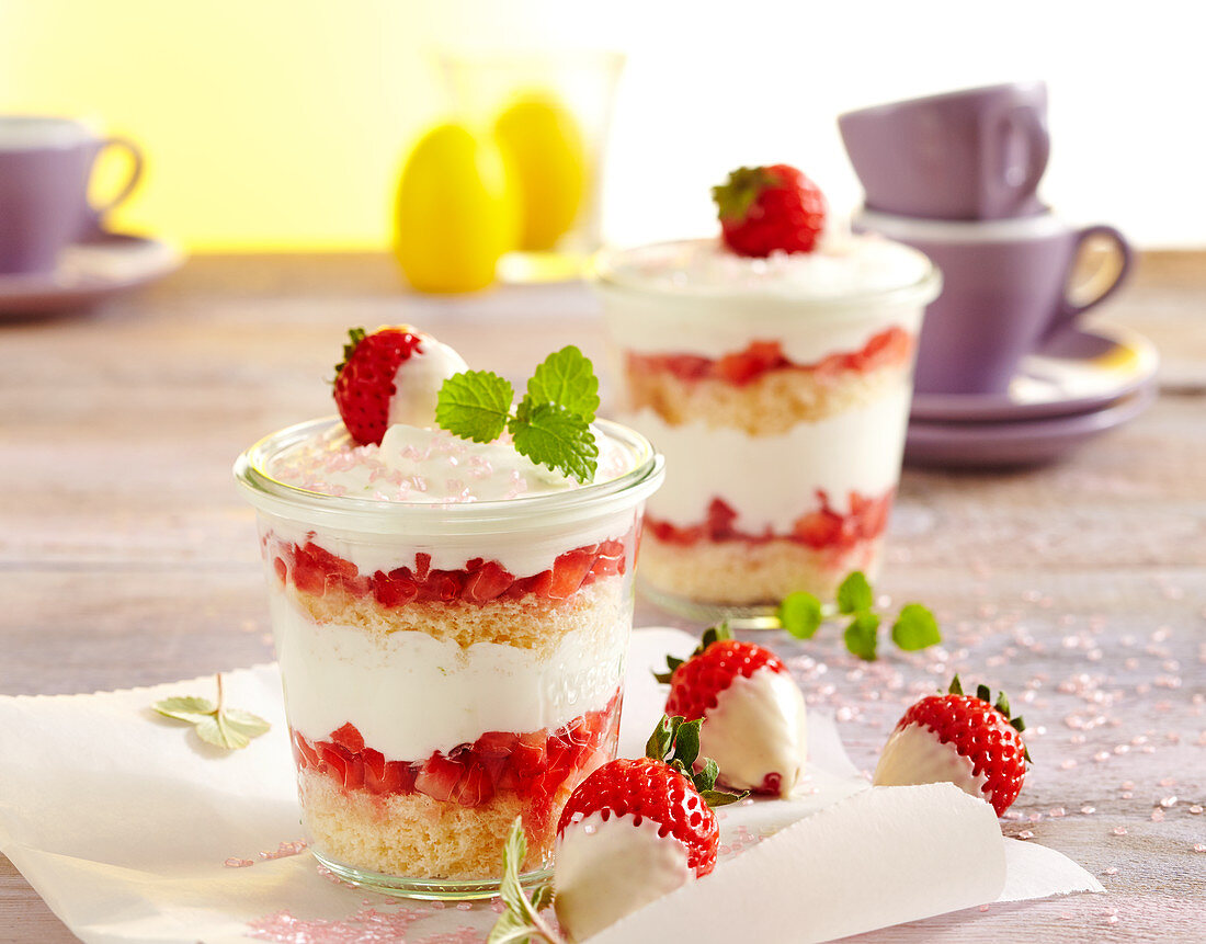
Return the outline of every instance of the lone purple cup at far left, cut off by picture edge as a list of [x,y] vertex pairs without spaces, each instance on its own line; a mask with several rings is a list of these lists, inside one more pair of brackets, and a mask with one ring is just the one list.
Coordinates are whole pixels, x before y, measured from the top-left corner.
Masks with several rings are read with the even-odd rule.
[[[107,147],[129,153],[130,174],[116,197],[93,206],[88,183]],[[141,175],[142,152],[123,137],[69,118],[0,116],[0,275],[52,271],[66,246],[103,230],[105,213]]]

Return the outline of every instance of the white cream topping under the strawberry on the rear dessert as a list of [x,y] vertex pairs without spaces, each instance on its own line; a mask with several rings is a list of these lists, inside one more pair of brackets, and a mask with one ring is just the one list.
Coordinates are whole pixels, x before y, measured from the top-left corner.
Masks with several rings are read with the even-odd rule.
[[658,242],[604,256],[604,277],[690,295],[755,294],[835,299],[890,292],[930,271],[921,253],[873,234],[833,229],[812,252],[738,256],[720,239]]

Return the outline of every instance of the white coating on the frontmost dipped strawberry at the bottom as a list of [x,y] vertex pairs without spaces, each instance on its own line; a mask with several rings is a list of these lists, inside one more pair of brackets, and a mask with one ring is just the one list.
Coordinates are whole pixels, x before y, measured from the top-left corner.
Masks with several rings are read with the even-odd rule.
[[552,887],[557,920],[573,940],[586,940],[638,908],[689,883],[687,851],[660,837],[650,819],[607,820],[592,813],[557,839]]

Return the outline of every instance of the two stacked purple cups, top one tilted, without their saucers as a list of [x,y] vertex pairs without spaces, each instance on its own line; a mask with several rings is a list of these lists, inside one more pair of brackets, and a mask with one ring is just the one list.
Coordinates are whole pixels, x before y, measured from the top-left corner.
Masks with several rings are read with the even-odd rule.
[[[1117,289],[1131,251],[1112,227],[1075,227],[1036,189],[1047,169],[1047,87],[1011,83],[848,112],[838,118],[866,190],[859,229],[942,270],[919,342],[920,394],[1003,394],[1021,359]],[[1071,282],[1090,240],[1112,244],[1091,297]],[[1083,287],[1082,287],[1083,288]]]

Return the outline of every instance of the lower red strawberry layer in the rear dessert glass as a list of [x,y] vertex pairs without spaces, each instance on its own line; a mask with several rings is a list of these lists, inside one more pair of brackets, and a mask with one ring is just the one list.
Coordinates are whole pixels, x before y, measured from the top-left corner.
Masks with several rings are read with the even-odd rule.
[[878,497],[849,493],[850,510],[835,511],[829,496],[818,491],[820,508],[789,522],[779,530],[766,528],[759,533],[744,532],[736,526],[737,512],[721,498],[708,505],[704,521],[691,527],[679,527],[652,516],[645,517],[645,527],[658,541],[679,546],[691,546],[699,541],[744,541],[765,544],[773,540],[790,540],[813,550],[849,550],[878,538],[888,527],[895,489]]

